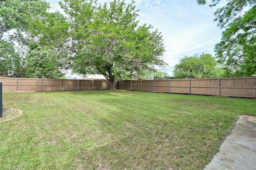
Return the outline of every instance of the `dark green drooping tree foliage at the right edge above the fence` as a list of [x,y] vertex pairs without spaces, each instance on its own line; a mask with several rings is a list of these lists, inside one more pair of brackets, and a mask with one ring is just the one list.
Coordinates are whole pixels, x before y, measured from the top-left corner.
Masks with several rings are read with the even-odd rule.
[[[206,4],[206,0],[197,0]],[[212,0],[216,6],[220,0]],[[227,0],[214,13],[218,26],[224,29],[215,45],[218,62],[226,76],[256,75],[256,0]]]

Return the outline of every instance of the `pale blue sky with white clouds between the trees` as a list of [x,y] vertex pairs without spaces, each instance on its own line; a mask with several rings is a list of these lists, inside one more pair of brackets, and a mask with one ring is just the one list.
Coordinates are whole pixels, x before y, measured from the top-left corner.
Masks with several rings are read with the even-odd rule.
[[[58,9],[58,0],[48,1],[55,1]],[[166,47],[164,61],[168,63],[164,71],[170,76],[174,65],[185,55],[203,52],[214,55],[214,45],[220,42],[222,32],[213,21],[216,8],[198,6],[196,0],[135,0],[135,6],[140,10],[137,18],[140,25],[151,24],[154,30],[162,32]]]

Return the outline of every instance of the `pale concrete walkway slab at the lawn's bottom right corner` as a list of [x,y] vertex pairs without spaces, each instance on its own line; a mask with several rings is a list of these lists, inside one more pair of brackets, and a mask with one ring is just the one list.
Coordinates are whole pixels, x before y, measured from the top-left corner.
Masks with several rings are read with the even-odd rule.
[[256,117],[241,115],[204,170],[256,170]]

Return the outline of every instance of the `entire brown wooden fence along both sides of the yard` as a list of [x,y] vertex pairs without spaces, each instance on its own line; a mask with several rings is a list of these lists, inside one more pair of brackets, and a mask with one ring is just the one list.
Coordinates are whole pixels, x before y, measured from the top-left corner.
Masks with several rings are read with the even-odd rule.
[[[105,90],[108,80],[67,80],[0,77],[3,92]],[[256,77],[121,80],[118,89],[181,94],[256,98]]]

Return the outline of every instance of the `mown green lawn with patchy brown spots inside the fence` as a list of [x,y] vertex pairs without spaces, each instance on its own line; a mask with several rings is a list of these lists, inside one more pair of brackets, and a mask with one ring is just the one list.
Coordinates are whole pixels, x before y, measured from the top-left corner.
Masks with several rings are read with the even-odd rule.
[[0,169],[203,169],[239,115],[256,115],[252,99],[129,90],[9,92],[3,104],[23,114],[0,123]]

